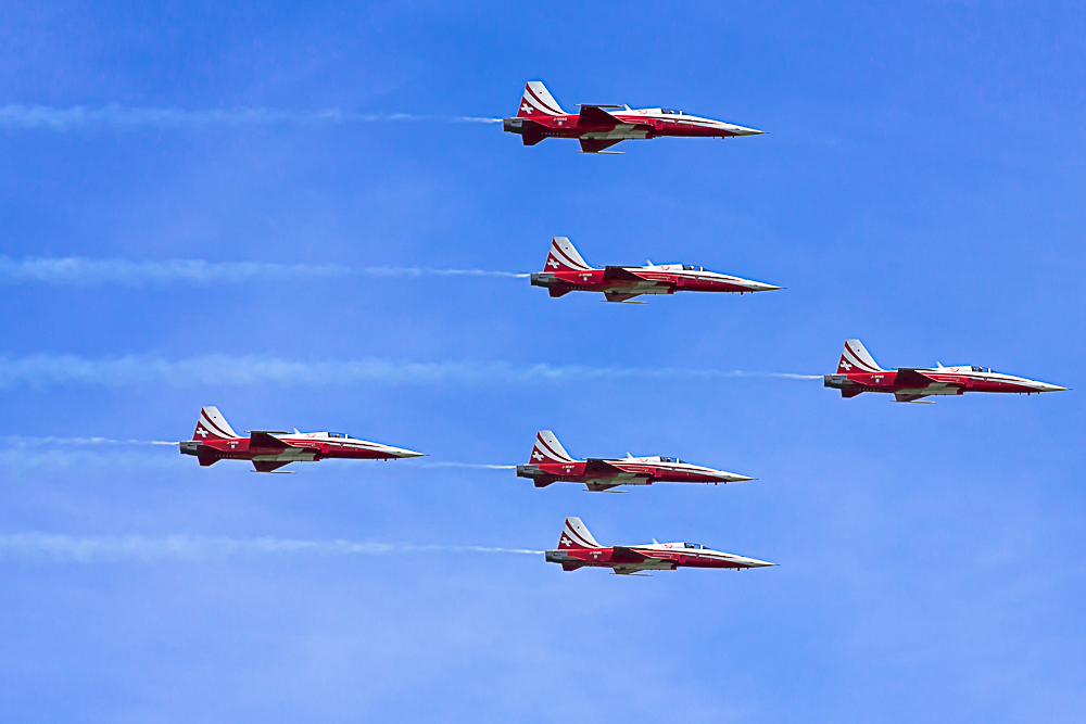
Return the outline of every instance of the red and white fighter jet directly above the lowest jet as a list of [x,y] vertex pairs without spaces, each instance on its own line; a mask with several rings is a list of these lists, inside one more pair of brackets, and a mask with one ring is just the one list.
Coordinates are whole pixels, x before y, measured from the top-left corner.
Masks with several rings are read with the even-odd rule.
[[652,485],[653,483],[735,483],[754,480],[734,472],[703,468],[678,458],[652,456],[635,458],[589,458],[574,460],[550,430],[535,433],[531,461],[517,466],[518,478],[531,478],[535,487],[553,483],[584,483],[593,492],[608,491],[618,485]]

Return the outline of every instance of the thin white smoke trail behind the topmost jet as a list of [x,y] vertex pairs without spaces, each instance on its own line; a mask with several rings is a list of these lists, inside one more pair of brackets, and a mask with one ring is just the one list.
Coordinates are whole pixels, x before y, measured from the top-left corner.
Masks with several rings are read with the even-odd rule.
[[76,130],[91,128],[209,128],[215,126],[248,125],[315,125],[425,122],[439,123],[501,123],[502,118],[481,116],[425,115],[415,113],[352,113],[339,109],[323,111],[282,111],[274,109],[212,109],[185,111],[181,109],[137,109],[116,103],[98,107],[74,105],[66,109],[47,105],[10,103],[0,106],[0,128]]

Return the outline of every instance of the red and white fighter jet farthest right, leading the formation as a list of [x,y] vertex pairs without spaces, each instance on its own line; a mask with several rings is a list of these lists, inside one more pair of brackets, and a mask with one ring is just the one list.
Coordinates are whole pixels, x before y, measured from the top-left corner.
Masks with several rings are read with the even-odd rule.
[[[863,392],[889,392],[895,402],[914,403],[929,395],[962,395],[967,392],[1061,392],[1047,382],[994,372],[990,367],[935,367],[886,370],[859,340],[845,340],[845,351],[837,363],[837,373],[826,374],[823,384],[841,390],[842,397]],[[929,403],[930,404],[930,403]]]

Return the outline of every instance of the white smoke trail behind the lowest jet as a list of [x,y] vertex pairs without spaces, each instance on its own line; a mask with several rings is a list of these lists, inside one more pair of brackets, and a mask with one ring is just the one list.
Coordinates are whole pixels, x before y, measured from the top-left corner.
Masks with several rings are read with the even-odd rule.
[[171,535],[58,535],[51,533],[0,534],[0,557],[17,560],[98,563],[123,560],[206,560],[233,556],[379,556],[397,552],[482,552],[539,555],[542,550],[489,546],[413,545],[353,541],[298,541],[291,538],[227,538]]

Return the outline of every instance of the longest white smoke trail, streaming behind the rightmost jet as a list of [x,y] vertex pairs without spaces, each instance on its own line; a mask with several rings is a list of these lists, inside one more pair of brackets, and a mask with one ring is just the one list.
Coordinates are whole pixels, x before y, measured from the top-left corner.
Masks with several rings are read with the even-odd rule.
[[585,365],[514,365],[507,361],[412,363],[391,359],[294,361],[262,356],[207,355],[185,359],[144,356],[88,359],[76,355],[0,356],[0,389],[85,383],[110,388],[147,383],[185,385],[299,386],[383,384],[512,384],[592,380],[717,380],[783,378],[818,380],[820,374],[745,372],[722,369],[622,368]]

